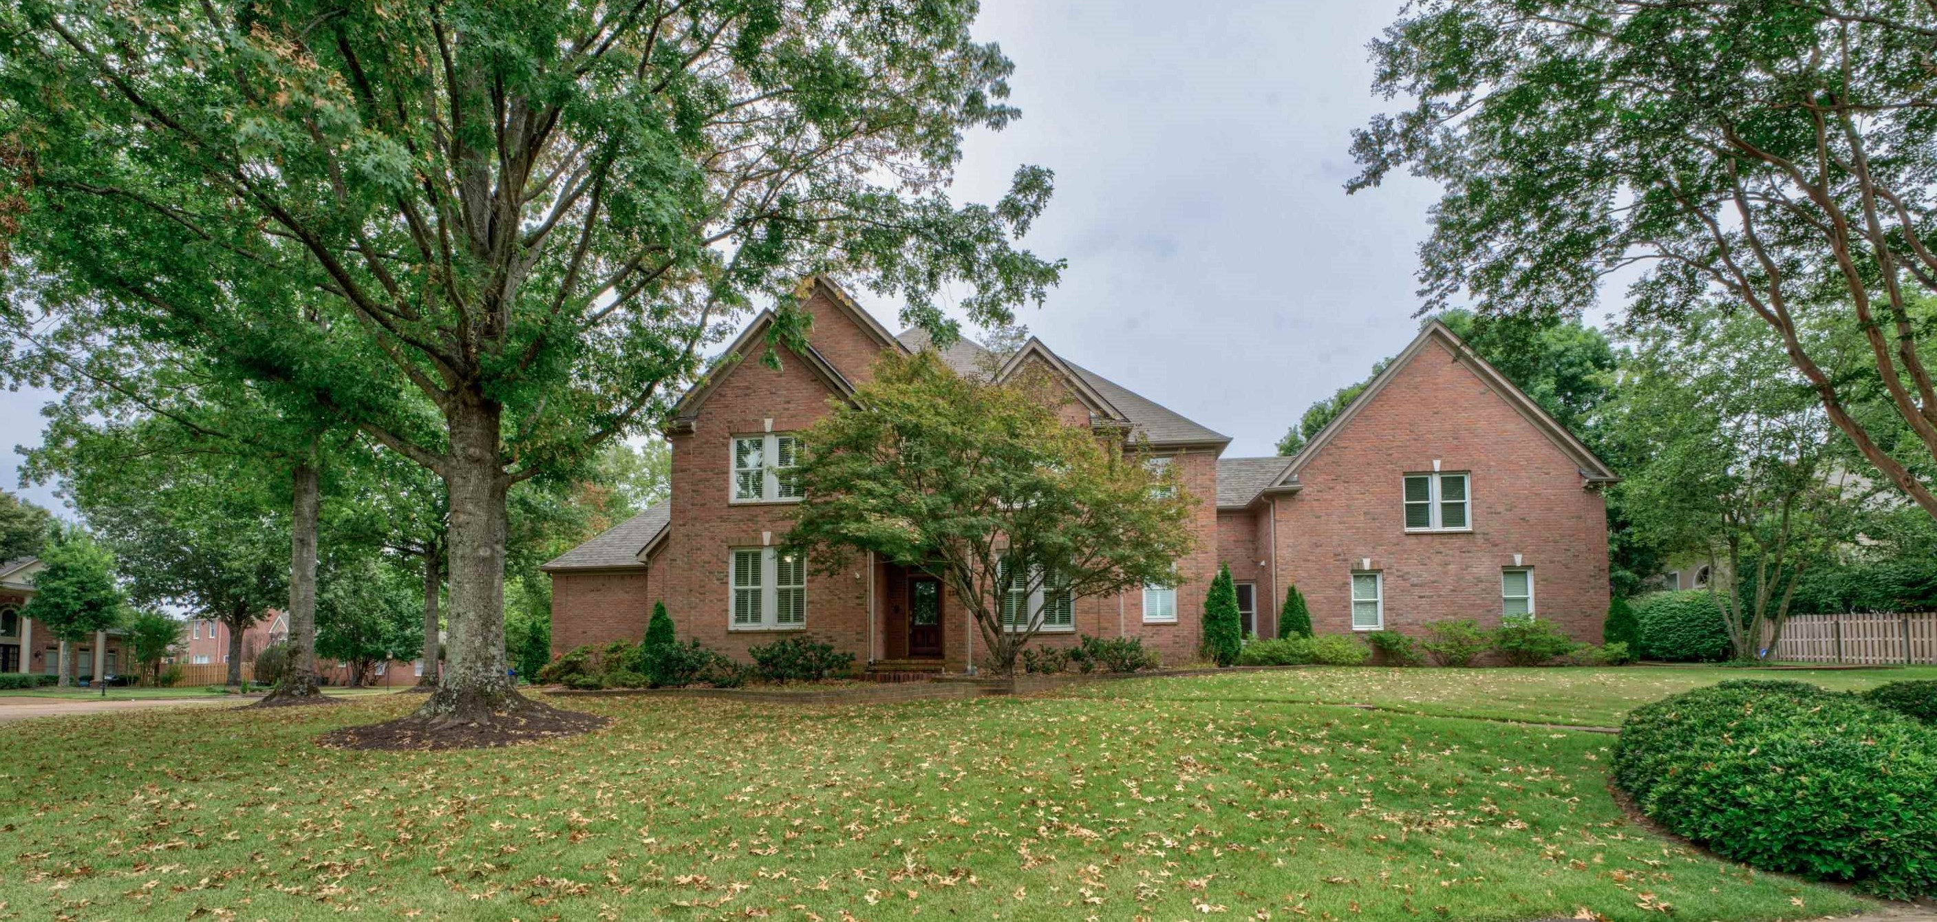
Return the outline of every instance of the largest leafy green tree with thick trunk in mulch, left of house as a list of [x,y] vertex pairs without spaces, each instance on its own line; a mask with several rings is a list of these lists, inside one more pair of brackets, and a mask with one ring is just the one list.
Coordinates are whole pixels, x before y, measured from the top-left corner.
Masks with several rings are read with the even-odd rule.
[[506,682],[506,494],[655,422],[734,312],[845,271],[947,335],[1060,263],[1050,194],[943,186],[1017,116],[972,0],[25,0],[0,12],[15,298],[312,395],[436,471],[449,649],[420,719]]

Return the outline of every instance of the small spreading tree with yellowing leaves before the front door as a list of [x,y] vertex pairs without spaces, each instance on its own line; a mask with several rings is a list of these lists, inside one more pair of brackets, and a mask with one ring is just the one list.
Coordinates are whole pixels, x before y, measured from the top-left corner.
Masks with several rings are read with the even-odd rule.
[[1003,674],[1075,599],[1176,585],[1195,500],[1120,436],[1063,424],[1056,393],[1032,372],[959,376],[934,351],[883,356],[802,432],[786,546],[823,573],[856,552],[936,573]]

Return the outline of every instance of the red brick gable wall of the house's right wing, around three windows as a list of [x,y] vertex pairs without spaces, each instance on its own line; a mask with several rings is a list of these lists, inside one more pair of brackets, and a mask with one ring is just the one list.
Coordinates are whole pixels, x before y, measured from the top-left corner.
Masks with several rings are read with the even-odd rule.
[[[1470,471],[1472,531],[1404,533],[1406,473]],[[1422,349],[1278,500],[1276,568],[1321,633],[1350,631],[1350,573],[1385,573],[1385,626],[1499,624],[1499,571],[1534,571],[1534,608],[1583,641],[1608,610],[1602,496],[1577,465],[1437,341]]]

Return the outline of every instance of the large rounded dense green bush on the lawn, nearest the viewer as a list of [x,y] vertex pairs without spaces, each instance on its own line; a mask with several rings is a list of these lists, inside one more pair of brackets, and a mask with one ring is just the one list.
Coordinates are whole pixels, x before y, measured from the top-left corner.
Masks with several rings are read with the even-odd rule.
[[1641,810],[1724,858],[1937,893],[1937,734],[1805,682],[1722,682],[1637,707],[1614,779]]

